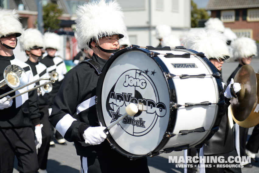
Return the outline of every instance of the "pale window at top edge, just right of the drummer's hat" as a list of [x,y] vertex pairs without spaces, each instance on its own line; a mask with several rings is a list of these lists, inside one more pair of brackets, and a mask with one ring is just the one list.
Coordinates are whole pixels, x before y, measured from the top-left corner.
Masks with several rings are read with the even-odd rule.
[[117,0],[123,11],[145,10],[145,0]]

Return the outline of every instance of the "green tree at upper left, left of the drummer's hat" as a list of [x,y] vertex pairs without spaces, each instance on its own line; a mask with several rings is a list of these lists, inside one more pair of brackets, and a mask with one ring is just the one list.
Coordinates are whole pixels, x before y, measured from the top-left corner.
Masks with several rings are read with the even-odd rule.
[[63,10],[59,9],[57,4],[48,3],[42,8],[42,11],[44,29],[58,29],[60,23],[58,17],[62,15]]

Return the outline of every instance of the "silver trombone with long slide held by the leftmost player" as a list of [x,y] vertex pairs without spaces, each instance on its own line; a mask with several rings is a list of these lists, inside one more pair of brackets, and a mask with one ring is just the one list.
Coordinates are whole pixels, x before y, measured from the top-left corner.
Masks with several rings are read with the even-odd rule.
[[26,84],[28,82],[28,78],[27,78],[26,72],[23,70],[23,68],[19,67],[18,65],[14,65],[14,64],[8,65],[5,68],[4,78],[5,78],[5,81],[0,83],[0,88],[5,86],[5,85],[8,85],[13,90],[9,91],[9,92],[6,92],[5,94],[0,95],[0,98],[4,97],[6,95],[9,95],[10,93],[15,92],[15,91],[17,91],[19,89],[22,89],[22,88],[24,88],[26,86],[34,84],[34,83],[36,83],[38,81],[48,80],[48,82],[45,82],[44,84],[38,85],[38,86],[36,86],[34,88],[31,88],[31,89],[29,89],[29,90],[27,90],[25,92],[22,92],[22,93],[19,93],[17,95],[14,95],[14,96],[10,97],[8,100],[13,99],[13,98],[15,98],[15,97],[17,97],[19,95],[25,94],[27,92],[33,91],[34,89],[40,88],[40,87],[45,86],[47,84],[51,84],[51,83],[55,82],[55,80],[53,80],[51,78],[39,78],[39,79],[37,79],[35,81],[32,81],[32,82]]

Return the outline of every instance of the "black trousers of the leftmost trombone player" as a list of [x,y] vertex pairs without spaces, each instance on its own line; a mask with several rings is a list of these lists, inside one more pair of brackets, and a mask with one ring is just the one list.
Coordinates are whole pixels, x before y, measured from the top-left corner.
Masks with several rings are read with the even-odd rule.
[[18,160],[18,170],[37,173],[38,159],[31,127],[0,129],[0,172],[12,173],[14,156]]

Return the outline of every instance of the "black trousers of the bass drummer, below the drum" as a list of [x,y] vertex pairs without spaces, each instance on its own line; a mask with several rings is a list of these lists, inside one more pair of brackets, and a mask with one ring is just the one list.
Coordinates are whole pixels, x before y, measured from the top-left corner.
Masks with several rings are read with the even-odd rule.
[[[119,153],[118,153],[119,154]],[[147,158],[130,161],[129,158],[114,154],[111,157],[82,157],[82,173],[149,173]]]

